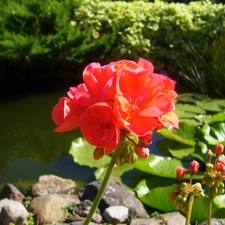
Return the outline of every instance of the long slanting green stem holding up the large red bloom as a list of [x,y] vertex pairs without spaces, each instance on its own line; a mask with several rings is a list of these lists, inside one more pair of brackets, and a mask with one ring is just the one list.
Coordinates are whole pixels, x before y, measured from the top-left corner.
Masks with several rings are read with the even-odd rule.
[[95,197],[95,200],[94,200],[94,203],[93,203],[93,205],[91,207],[91,210],[88,213],[86,220],[84,221],[84,225],[88,225],[91,222],[93,214],[95,213],[95,211],[96,211],[96,209],[97,209],[97,207],[98,207],[98,205],[99,205],[99,203],[100,203],[100,201],[102,199],[102,196],[103,196],[103,194],[105,192],[105,189],[106,189],[106,186],[107,186],[108,181],[110,179],[110,176],[112,174],[113,168],[115,166],[118,153],[119,153],[119,147],[116,148],[115,151],[113,152],[112,159],[111,159],[111,161],[109,163],[109,167],[108,167],[108,169],[106,171],[106,174],[104,176],[104,179],[102,181],[102,184],[101,184],[101,187],[100,187],[100,189],[98,191],[98,194]]

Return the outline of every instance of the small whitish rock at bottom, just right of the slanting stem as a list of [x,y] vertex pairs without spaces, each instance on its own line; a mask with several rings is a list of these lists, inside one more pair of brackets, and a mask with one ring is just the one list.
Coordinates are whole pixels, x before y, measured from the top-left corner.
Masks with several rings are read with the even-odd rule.
[[128,221],[128,208],[125,206],[110,206],[105,209],[103,217],[106,222],[118,224]]

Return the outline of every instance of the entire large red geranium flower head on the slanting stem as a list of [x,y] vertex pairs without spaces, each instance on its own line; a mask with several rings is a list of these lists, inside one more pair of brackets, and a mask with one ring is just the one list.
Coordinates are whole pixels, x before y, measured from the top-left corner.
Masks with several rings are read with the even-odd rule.
[[146,137],[163,126],[178,129],[173,103],[176,82],[155,74],[147,60],[120,60],[105,66],[91,63],[84,69],[83,81],[54,107],[55,131],[80,126],[90,144],[109,154],[122,132]]

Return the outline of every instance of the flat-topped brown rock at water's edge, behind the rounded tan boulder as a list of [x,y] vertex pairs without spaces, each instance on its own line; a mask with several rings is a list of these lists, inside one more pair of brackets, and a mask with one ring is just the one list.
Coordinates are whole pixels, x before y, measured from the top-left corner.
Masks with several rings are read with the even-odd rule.
[[67,194],[76,187],[76,183],[70,179],[64,179],[55,175],[40,176],[38,182],[31,187],[31,196],[47,194]]

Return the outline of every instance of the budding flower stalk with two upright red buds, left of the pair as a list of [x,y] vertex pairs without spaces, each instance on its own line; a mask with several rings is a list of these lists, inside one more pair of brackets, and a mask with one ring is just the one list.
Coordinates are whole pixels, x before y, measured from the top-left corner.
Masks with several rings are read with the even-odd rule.
[[179,184],[172,185],[173,192],[170,194],[169,199],[174,201],[176,208],[187,213],[185,225],[190,225],[191,212],[194,200],[198,197],[204,197],[204,190],[200,183],[192,184],[192,177],[198,171],[199,163],[193,160],[190,163],[190,181],[189,183],[183,182],[186,170],[178,166],[176,168],[177,179]]

